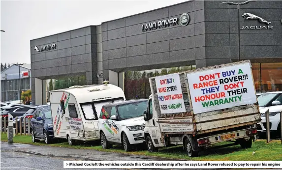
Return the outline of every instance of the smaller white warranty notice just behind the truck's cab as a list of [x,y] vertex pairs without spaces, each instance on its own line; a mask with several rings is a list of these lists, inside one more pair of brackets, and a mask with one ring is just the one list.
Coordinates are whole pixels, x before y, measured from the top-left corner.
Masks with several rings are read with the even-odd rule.
[[160,112],[186,112],[179,74],[169,74],[155,78]]

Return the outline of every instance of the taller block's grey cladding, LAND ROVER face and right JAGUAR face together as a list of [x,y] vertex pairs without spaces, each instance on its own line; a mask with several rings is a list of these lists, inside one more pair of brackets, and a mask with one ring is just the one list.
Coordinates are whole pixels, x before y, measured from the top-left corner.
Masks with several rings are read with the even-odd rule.
[[[165,68],[195,64],[197,68],[238,60],[236,5],[219,0],[195,0],[102,23],[103,74],[109,71]],[[240,26],[267,26],[245,20],[252,13],[273,29],[240,30],[241,59],[252,62],[282,60],[282,1],[256,1],[242,5]],[[141,25],[188,13],[187,26],[141,31]]]

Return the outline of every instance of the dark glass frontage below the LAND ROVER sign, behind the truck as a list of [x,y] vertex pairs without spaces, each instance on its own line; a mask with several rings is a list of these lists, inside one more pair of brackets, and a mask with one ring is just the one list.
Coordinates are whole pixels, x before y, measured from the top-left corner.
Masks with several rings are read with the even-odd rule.
[[149,78],[154,76],[166,75],[171,73],[178,73],[195,69],[195,65],[184,67],[171,67],[143,71],[129,71],[124,73],[125,85],[125,98],[134,99],[136,96],[139,98],[149,98],[151,94]]

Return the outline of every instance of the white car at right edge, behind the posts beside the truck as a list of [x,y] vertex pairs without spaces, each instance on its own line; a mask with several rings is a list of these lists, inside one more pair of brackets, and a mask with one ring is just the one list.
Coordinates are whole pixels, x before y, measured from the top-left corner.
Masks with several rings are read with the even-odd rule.
[[282,91],[267,92],[257,98],[261,122],[257,124],[258,135],[266,132],[265,112],[269,110],[270,132],[279,135],[281,130],[280,112],[282,111]]

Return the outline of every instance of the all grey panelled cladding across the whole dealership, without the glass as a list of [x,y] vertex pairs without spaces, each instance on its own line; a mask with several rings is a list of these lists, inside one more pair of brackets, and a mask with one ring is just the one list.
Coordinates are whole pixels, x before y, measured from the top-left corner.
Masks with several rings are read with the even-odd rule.
[[[238,11],[221,0],[190,0],[184,3],[31,40],[31,90],[35,81],[68,74],[85,74],[87,84],[123,86],[121,72],[174,66],[196,68],[238,60]],[[252,13],[273,29],[240,30],[241,59],[251,62],[282,62],[282,1],[258,0],[242,5],[240,26],[267,26],[245,20]],[[170,26],[142,32],[141,26],[188,13],[187,26]],[[56,43],[56,50],[37,53],[36,45]],[[98,74],[103,76],[99,77]],[[119,74],[118,74],[119,73]],[[36,80],[38,82],[38,80]],[[111,80],[110,80],[111,82]],[[41,81],[42,84],[42,81]],[[37,88],[38,89],[38,88]]]

